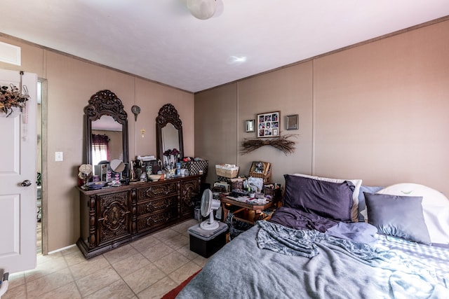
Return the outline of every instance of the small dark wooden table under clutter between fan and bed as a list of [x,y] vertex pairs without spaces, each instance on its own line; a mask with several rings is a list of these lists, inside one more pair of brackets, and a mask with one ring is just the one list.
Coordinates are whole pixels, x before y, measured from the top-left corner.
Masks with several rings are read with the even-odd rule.
[[223,209],[222,221],[226,220],[227,214],[229,214],[229,208],[234,206],[240,207],[240,209],[233,211],[234,218],[252,225],[254,225],[257,220],[268,220],[271,218],[271,214],[267,215],[262,211],[271,207],[278,207],[278,202],[280,200],[280,198],[273,198],[271,202],[267,202],[266,204],[249,204],[247,202],[232,200],[231,198],[228,198],[227,195],[229,195],[229,193],[220,194],[220,201],[222,202]]

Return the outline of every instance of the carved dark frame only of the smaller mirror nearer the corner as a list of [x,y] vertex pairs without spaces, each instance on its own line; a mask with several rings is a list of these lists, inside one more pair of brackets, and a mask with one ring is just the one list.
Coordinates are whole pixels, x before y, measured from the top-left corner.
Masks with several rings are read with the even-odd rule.
[[162,142],[162,128],[168,123],[171,123],[175,129],[177,129],[178,141],[180,144],[180,158],[184,158],[184,143],[182,139],[182,122],[180,116],[172,104],[165,104],[159,109],[158,116],[156,117],[156,151],[158,159],[163,160],[163,142]]

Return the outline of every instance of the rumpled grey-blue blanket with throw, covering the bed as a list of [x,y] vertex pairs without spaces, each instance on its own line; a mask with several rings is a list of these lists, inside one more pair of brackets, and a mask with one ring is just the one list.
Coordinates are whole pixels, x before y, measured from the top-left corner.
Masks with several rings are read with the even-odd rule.
[[177,298],[449,298],[449,290],[400,252],[259,221],[215,253]]

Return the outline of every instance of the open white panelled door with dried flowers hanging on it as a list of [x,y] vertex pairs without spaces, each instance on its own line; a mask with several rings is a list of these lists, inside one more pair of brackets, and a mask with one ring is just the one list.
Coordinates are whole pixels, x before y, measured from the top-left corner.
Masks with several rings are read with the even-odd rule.
[[[19,71],[0,69],[0,85],[11,83],[20,86]],[[36,74],[25,73],[22,85],[27,110],[8,118],[0,112],[0,268],[10,273],[36,267]],[[26,180],[31,185],[22,186]]]

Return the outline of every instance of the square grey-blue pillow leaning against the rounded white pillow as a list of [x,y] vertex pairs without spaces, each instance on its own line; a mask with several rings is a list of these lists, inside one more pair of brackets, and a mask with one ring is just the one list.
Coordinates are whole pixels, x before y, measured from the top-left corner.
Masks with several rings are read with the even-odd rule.
[[368,223],[378,232],[430,244],[422,212],[422,197],[365,193]]

